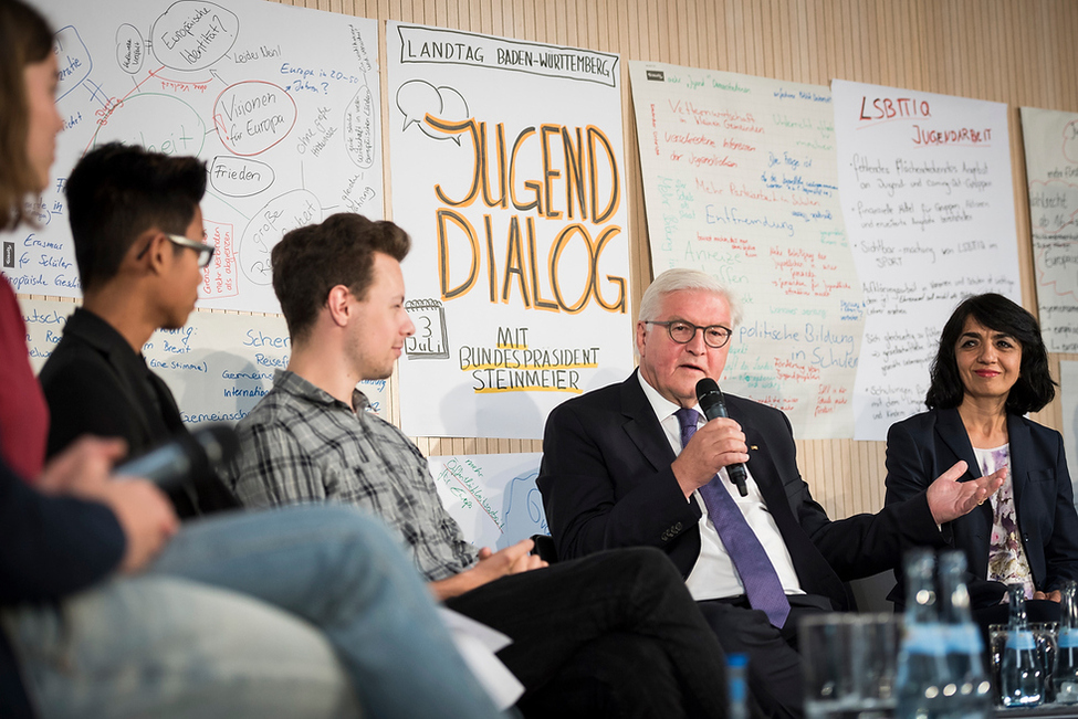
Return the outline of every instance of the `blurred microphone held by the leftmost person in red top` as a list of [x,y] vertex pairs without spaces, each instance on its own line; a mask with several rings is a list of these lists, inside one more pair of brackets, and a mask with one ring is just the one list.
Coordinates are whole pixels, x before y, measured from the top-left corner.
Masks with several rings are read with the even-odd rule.
[[187,484],[212,479],[231,462],[240,447],[236,432],[228,424],[208,424],[188,434],[180,432],[171,440],[115,468],[116,475],[144,477],[165,491]]

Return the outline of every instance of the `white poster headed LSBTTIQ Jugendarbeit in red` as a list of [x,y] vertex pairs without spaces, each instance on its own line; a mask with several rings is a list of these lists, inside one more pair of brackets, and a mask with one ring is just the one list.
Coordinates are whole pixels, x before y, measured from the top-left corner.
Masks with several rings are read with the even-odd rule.
[[831,82],[846,229],[865,294],[855,440],[924,410],[964,297],[1022,302],[1007,106]]

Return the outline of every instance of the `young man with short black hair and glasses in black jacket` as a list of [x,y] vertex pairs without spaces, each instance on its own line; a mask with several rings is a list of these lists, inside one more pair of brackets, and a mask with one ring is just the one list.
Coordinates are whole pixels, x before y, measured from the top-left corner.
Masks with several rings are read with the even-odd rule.
[[[187,432],[171,391],[146,366],[143,346],[179,329],[195,309],[203,242],[206,165],[109,144],[86,154],[67,178],[67,211],[83,306],[41,370],[49,456],[83,434],[123,437],[129,456]],[[170,498],[182,517],[237,506],[220,483],[197,498]]]

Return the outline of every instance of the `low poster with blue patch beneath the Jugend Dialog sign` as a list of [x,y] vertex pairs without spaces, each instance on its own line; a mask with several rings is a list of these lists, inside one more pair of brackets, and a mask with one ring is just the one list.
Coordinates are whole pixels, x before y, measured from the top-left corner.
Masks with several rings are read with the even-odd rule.
[[446,509],[477,547],[505,549],[532,535],[548,535],[543,496],[535,487],[538,452],[429,457]]

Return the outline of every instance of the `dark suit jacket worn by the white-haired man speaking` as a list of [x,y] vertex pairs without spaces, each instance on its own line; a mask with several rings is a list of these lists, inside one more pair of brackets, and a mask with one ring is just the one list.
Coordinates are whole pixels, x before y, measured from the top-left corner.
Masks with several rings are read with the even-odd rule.
[[[827,518],[797,470],[786,415],[731,394],[760,486],[802,588],[847,609],[842,581],[891,569],[911,546],[939,542],[923,493],[878,515]],[[558,557],[615,547],[664,550],[685,577],[700,554],[700,509],[674,479],[676,458],[636,372],[557,406],[546,422],[536,480]]]

